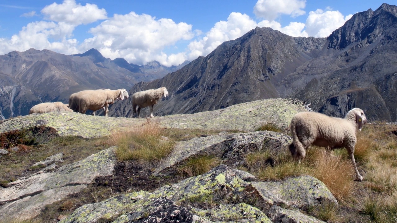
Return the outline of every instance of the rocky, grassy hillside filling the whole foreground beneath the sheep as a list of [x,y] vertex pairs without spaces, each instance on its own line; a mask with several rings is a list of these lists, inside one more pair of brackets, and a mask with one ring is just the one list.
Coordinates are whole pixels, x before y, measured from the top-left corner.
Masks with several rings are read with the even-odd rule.
[[395,123],[358,131],[355,182],[345,149],[292,159],[286,123],[305,110],[266,99],[150,119],[0,121],[0,223],[393,222]]

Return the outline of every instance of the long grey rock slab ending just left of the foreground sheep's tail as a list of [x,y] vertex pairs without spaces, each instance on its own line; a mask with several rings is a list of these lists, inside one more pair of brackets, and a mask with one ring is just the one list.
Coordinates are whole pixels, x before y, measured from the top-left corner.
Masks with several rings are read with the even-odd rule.
[[[245,154],[258,150],[271,150],[277,154],[291,143],[291,137],[282,133],[257,131],[192,138],[177,142],[172,153],[154,171],[154,175],[173,173],[191,156],[217,156],[231,166],[241,165]],[[169,168],[169,169],[167,169]]]

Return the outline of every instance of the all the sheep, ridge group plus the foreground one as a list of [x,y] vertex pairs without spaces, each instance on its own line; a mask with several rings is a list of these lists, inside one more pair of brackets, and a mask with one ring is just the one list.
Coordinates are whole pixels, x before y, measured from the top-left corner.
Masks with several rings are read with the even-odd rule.
[[[138,113],[141,117],[141,108],[150,106],[150,117],[153,117],[153,106],[164,96],[168,96],[165,87],[143,90],[132,95],[133,115]],[[103,109],[108,116],[108,107],[115,100],[129,98],[125,89],[118,90],[83,90],[69,97],[69,104],[62,102],[46,102],[33,106],[31,113],[47,113],[53,111],[71,111],[85,113],[92,110]],[[367,122],[364,112],[359,108],[350,110],[345,118],[330,117],[318,112],[299,112],[291,120],[291,135],[293,142],[289,145],[291,155],[298,160],[306,157],[306,150],[310,145],[325,147],[327,152],[336,148],[346,148],[356,172],[356,180],[362,181],[358,173],[355,158],[353,156],[357,142],[356,132],[361,131]]]

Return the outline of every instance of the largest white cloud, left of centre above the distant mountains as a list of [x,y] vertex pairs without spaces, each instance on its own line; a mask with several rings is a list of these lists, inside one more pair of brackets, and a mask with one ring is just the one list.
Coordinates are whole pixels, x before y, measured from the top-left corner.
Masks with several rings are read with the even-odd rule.
[[124,58],[129,63],[145,64],[157,60],[163,65],[178,65],[185,60],[183,53],[166,55],[162,50],[178,40],[195,36],[192,25],[175,23],[172,19],[156,19],[150,15],[130,12],[114,17],[91,28],[93,38],[86,39],[82,48],[96,48],[103,56]]

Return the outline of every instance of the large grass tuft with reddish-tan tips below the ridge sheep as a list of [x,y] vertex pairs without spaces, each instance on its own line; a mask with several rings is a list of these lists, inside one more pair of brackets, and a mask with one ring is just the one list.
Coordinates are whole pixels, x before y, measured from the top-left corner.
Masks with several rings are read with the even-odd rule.
[[119,161],[132,160],[139,165],[156,166],[168,156],[175,142],[162,139],[164,128],[157,121],[147,119],[140,127],[129,131],[119,131],[109,138],[109,143],[117,145]]

